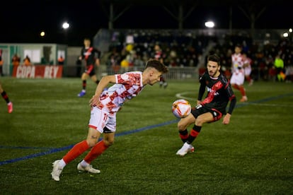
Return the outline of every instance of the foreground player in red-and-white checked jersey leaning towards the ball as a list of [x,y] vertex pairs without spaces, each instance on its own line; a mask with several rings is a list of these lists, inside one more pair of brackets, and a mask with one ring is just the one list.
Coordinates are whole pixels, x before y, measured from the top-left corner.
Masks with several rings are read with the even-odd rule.
[[[91,118],[88,123],[88,136],[86,140],[76,143],[61,160],[53,162],[52,179],[59,181],[65,165],[86,152],[88,148],[91,148],[91,151],[77,165],[77,170],[99,173],[100,170],[94,169],[90,163],[113,144],[117,112],[125,101],[137,96],[145,85],[154,85],[159,82],[161,75],[167,71],[167,67],[160,61],[149,59],[143,72],[132,71],[103,76],[98,83],[95,95],[90,100]],[[104,90],[109,83],[115,84]],[[98,142],[101,134],[104,135],[103,140]]]

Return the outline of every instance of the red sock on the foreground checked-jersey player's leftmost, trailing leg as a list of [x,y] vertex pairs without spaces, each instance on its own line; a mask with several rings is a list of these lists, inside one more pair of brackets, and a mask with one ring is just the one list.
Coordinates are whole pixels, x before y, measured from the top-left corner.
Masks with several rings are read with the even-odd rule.
[[66,155],[64,155],[64,157],[63,157],[64,162],[66,164],[68,164],[72,160],[74,160],[77,157],[79,157],[79,155],[81,155],[82,153],[84,153],[86,150],[88,150],[88,148],[89,147],[88,147],[88,143],[86,142],[86,140],[81,141],[79,143],[76,143],[74,145],[74,147],[71,148],[71,150],[69,150]]

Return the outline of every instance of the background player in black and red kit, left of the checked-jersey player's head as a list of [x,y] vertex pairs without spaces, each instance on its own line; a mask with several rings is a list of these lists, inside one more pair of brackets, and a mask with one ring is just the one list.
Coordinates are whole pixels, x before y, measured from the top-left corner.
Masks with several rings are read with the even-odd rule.
[[83,97],[86,95],[86,80],[88,76],[91,76],[91,80],[98,84],[98,78],[96,76],[95,64],[100,66],[100,51],[95,47],[91,47],[91,40],[89,38],[84,39],[84,47],[81,49],[81,56],[79,59],[84,59],[86,62],[86,70],[81,75],[82,90],[77,96]]

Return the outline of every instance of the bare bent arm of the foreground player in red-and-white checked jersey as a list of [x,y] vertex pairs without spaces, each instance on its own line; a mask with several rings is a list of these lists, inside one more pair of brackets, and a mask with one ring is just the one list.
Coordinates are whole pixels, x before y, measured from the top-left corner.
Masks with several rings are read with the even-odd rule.
[[103,78],[100,79],[100,82],[98,83],[98,86],[96,88],[96,93],[89,101],[90,106],[98,105],[98,103],[100,102],[100,94],[103,92],[104,88],[108,86],[109,83],[116,83],[115,75],[103,76]]

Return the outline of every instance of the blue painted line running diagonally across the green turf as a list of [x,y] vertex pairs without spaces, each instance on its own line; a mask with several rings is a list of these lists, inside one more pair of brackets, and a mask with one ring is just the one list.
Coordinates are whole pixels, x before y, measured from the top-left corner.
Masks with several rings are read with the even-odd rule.
[[[265,98],[265,99],[257,100],[257,101],[251,102],[251,103],[268,102],[270,100],[277,100],[277,99],[284,98],[284,97],[291,96],[291,95],[293,95],[293,93],[287,93],[287,94],[284,94],[284,95],[277,95],[275,97]],[[247,106],[247,105],[250,105],[250,102],[244,102],[244,103],[241,103],[241,104],[237,104],[235,108],[243,107],[243,106]],[[159,127],[159,126],[165,126],[165,125],[168,125],[168,124],[173,124],[173,123],[176,123],[176,122],[178,122],[178,119],[172,120],[172,121],[169,121],[169,122],[163,122],[161,124],[154,124],[154,125],[151,125],[151,126],[144,126],[142,128],[134,129],[134,130],[131,130],[131,131],[125,131],[125,132],[122,132],[122,133],[117,133],[115,136],[125,136],[125,135],[129,135],[129,134],[134,134],[134,133],[137,133],[137,132],[140,132],[140,131],[145,131],[145,130],[153,129],[153,128],[156,128],[156,127]],[[48,154],[52,154],[52,153],[57,153],[57,152],[62,151],[62,150],[69,150],[73,146],[74,145],[64,146],[62,148],[52,148],[52,149],[50,148],[50,150],[47,150],[45,152],[35,153],[35,154],[32,154],[32,155],[26,155],[26,156],[23,156],[21,158],[14,158],[14,159],[11,159],[11,160],[0,161],[0,166],[1,165],[6,165],[6,164],[12,163],[12,162],[18,162],[18,161],[21,161],[21,160],[28,160],[30,158],[36,158],[36,157],[39,157],[39,156],[42,156],[42,155],[48,155]],[[38,147],[12,147],[12,146],[11,147],[9,147],[9,146],[0,146],[0,148],[47,149],[47,148],[38,148]]]

